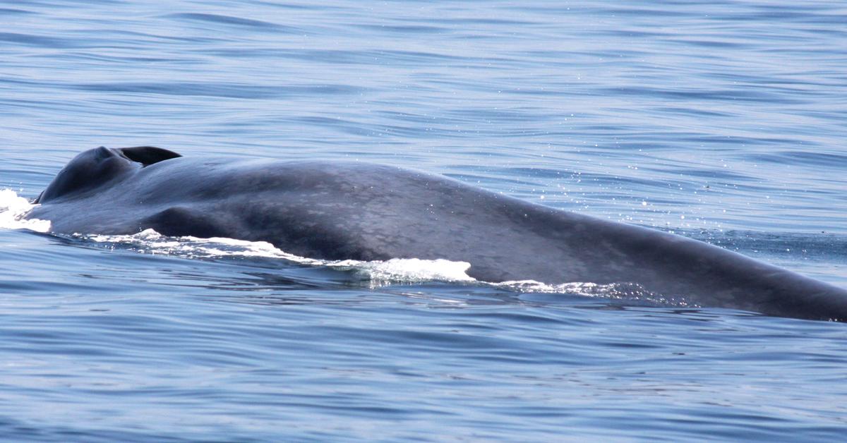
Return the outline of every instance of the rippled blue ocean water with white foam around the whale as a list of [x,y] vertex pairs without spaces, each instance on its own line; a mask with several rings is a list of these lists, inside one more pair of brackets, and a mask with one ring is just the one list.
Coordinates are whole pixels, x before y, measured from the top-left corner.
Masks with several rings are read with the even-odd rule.
[[844,3],[15,0],[0,19],[3,440],[847,435],[844,324],[16,217],[91,147],[358,159],[847,287]]

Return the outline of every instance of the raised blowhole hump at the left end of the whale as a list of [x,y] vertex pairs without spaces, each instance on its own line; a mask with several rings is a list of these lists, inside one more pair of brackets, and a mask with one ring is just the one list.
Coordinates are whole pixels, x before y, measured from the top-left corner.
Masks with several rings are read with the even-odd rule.
[[133,174],[138,169],[181,157],[160,147],[97,147],[81,152],[58,172],[34,203],[79,196]]

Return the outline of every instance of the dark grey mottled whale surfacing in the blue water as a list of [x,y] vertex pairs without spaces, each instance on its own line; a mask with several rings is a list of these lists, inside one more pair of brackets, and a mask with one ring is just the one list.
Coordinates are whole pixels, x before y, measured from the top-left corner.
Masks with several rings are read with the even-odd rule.
[[446,258],[477,280],[636,284],[701,307],[847,321],[847,291],[679,235],[369,163],[82,152],[28,214],[54,232],[230,237],[324,259]]

